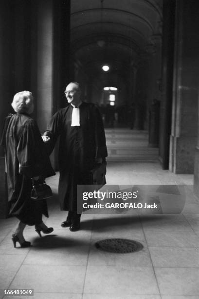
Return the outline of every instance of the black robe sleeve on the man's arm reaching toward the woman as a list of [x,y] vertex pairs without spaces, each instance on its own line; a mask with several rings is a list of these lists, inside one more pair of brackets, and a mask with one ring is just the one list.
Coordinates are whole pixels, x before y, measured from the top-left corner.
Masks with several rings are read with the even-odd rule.
[[49,141],[45,142],[45,147],[49,155],[52,153],[55,143],[61,134],[61,130],[63,128],[62,123],[61,110],[59,110],[53,115],[46,131],[43,134],[44,136],[48,136],[50,138]]

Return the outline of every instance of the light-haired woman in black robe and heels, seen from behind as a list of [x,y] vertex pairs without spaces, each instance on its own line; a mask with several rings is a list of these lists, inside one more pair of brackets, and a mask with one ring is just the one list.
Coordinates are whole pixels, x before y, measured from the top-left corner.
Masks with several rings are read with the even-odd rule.
[[17,113],[5,119],[1,146],[5,148],[9,213],[20,220],[12,240],[14,247],[16,242],[28,247],[31,243],[23,237],[26,225],[35,225],[39,235],[41,231],[45,234],[53,231],[42,221],[42,214],[48,217],[46,200],[31,200],[32,178],[38,183],[42,177],[55,173],[38,126],[29,115],[34,110],[32,93],[18,92],[12,107]]

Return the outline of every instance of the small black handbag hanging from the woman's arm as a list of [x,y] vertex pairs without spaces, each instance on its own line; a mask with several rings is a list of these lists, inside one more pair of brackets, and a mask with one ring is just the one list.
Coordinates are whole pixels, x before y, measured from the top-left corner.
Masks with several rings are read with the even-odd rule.
[[33,189],[31,191],[31,199],[32,200],[42,200],[48,199],[53,196],[53,192],[51,187],[44,182],[35,182],[32,179]]

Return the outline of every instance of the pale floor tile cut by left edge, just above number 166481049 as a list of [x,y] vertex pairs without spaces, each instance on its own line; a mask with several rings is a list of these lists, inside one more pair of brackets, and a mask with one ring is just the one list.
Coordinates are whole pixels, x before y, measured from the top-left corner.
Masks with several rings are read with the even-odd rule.
[[24,256],[0,255],[0,289],[8,288],[24,260]]

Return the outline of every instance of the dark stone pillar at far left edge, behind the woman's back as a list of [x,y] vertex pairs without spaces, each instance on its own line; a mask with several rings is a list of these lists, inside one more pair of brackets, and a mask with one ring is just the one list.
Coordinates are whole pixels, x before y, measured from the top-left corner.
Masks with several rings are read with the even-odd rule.
[[[14,2],[11,0],[0,1],[0,139],[4,119],[13,112],[10,104],[14,93],[14,17]],[[0,147],[0,218],[7,216],[7,205],[4,149]]]

